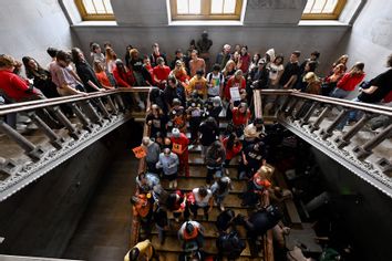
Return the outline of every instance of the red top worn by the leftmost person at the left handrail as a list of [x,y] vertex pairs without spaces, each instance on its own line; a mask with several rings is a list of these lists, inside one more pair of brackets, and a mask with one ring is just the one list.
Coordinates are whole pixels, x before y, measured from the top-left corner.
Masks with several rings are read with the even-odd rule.
[[0,88],[9,98],[17,102],[37,94],[29,92],[29,85],[17,74],[6,70],[0,71]]

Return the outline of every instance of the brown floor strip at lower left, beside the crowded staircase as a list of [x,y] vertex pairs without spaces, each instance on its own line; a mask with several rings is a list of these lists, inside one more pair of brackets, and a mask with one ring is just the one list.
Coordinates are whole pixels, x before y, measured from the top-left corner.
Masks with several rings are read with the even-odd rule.
[[128,250],[131,205],[137,160],[122,152],[107,169],[63,258],[123,260]]

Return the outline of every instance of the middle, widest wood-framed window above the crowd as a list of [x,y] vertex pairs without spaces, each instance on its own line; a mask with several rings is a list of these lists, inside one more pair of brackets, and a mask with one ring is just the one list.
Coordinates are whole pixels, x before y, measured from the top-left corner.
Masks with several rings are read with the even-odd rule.
[[171,0],[172,20],[240,20],[243,0]]

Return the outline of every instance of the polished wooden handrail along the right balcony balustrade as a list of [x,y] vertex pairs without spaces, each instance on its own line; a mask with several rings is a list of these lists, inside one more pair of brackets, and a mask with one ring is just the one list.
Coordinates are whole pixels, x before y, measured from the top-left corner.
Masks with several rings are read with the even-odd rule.
[[327,96],[321,96],[316,94],[301,93],[292,90],[258,90],[256,92],[260,92],[261,94],[265,95],[266,94],[267,95],[290,95],[290,96],[301,97],[306,100],[311,100],[319,103],[326,103],[326,104],[343,106],[348,108],[360,109],[369,113],[392,116],[392,107],[383,106],[383,105],[375,105],[369,103],[353,102],[349,100],[327,97]]

